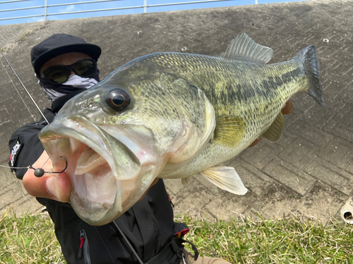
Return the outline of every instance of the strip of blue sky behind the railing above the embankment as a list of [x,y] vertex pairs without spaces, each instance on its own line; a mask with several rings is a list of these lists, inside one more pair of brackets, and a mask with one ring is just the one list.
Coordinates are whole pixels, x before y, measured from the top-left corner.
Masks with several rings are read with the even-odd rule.
[[[89,18],[89,17],[95,17],[95,16],[104,16],[104,15],[126,15],[126,14],[144,12],[143,7],[138,7],[138,6],[143,6],[145,2],[144,0],[114,0],[114,1],[104,1],[100,3],[76,4],[76,3],[88,2],[88,1],[92,1],[92,0],[47,0],[47,5],[49,6],[47,7],[47,14],[48,14],[47,20]],[[146,0],[148,5],[186,3],[191,1],[196,1],[196,0],[181,0],[181,1],[180,0]],[[157,6],[157,7],[148,7],[147,13],[185,10],[185,9],[193,9],[193,8],[241,6],[241,5],[255,4],[255,1],[256,0],[228,0],[228,1],[214,1],[214,2],[208,2],[203,4],[177,4],[174,6]],[[268,4],[268,3],[302,1],[302,0],[257,0],[257,1],[258,1],[258,4]],[[43,21],[44,4],[45,4],[45,0],[0,0],[0,25]],[[52,6],[57,4],[66,4],[66,5]],[[8,11],[11,9],[30,8],[30,7],[38,7],[38,8]],[[68,13],[68,12],[77,12],[77,11],[89,11],[89,10],[108,9],[108,8],[126,8],[126,7],[136,7],[136,8],[127,8],[127,9],[114,10],[114,11],[97,11],[97,12],[87,12],[87,13],[54,15],[55,13]],[[28,15],[39,15],[39,16],[31,17],[31,18],[1,20],[3,18],[16,18],[16,17],[28,16]]]

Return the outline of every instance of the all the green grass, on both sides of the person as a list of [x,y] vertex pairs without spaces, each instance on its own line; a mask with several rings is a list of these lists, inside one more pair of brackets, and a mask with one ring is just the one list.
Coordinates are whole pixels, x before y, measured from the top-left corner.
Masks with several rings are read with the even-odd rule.
[[[353,263],[353,227],[291,215],[283,220],[215,222],[178,218],[191,231],[186,239],[201,256],[230,263]],[[190,248],[189,248],[190,249]],[[0,263],[65,263],[54,225],[45,214],[0,216]]]

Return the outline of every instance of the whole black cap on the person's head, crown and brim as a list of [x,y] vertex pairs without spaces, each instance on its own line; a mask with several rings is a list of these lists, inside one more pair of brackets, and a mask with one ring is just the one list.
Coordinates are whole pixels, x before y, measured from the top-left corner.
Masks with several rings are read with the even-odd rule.
[[53,34],[35,45],[30,51],[30,59],[37,76],[40,76],[40,68],[51,58],[68,52],[82,52],[88,54],[95,61],[100,58],[102,50],[95,44],[88,44],[84,39],[69,34]]

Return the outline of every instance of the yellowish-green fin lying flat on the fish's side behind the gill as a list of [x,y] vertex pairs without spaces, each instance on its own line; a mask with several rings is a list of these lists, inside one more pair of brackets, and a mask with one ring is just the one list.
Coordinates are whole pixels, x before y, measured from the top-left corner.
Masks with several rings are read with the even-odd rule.
[[237,115],[219,115],[216,117],[213,142],[222,146],[234,147],[246,132],[244,118]]

